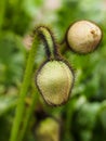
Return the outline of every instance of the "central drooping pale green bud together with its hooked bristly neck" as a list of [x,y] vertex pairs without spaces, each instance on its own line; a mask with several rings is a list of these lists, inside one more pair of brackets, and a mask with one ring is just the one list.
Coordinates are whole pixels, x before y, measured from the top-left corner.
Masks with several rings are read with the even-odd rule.
[[35,34],[43,41],[47,61],[36,73],[36,85],[44,101],[52,106],[65,104],[74,87],[75,75],[72,67],[59,54],[52,31],[44,26],[36,28]]

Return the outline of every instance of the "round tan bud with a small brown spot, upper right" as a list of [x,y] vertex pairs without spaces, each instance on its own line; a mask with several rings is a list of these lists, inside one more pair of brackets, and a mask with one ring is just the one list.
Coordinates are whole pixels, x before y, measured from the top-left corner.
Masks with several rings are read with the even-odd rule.
[[68,47],[77,53],[85,54],[94,51],[102,39],[101,28],[89,21],[78,21],[67,30]]

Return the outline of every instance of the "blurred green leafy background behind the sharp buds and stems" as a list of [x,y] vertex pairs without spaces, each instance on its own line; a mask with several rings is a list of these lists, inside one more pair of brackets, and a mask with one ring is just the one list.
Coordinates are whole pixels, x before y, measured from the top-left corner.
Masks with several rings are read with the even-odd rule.
[[[39,95],[25,140],[42,141],[48,137],[47,129],[50,130],[51,127],[55,132],[55,126],[59,127],[61,131],[57,130],[56,133],[61,136],[61,141],[105,141],[106,0],[59,0],[56,8],[48,2],[49,0],[0,1],[0,141],[9,140],[25,72],[29,48],[23,40],[39,23],[51,25],[54,35],[62,40],[67,27],[78,20],[90,20],[101,26],[103,40],[100,48],[88,55],[74,54],[69,50],[63,53],[76,68],[76,84],[71,99],[66,105],[52,108],[43,103]],[[37,63],[41,62],[43,55],[43,50],[39,49]],[[30,102],[27,106],[29,104]],[[49,139],[51,140],[53,139]]]

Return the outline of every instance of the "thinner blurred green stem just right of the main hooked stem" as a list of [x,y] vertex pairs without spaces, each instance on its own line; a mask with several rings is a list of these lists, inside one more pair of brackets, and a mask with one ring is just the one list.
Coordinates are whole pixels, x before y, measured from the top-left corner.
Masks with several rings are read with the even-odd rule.
[[18,138],[18,141],[23,141],[24,139],[24,136],[28,129],[28,124],[29,124],[29,119],[35,111],[35,107],[37,105],[37,101],[38,101],[38,97],[37,97],[37,90],[35,90],[35,88],[32,89],[32,101],[28,107],[28,110],[26,111],[26,116],[25,116],[25,119],[24,119],[24,123],[23,123],[23,127],[22,127],[22,130],[21,130],[21,133],[19,133],[19,138]]

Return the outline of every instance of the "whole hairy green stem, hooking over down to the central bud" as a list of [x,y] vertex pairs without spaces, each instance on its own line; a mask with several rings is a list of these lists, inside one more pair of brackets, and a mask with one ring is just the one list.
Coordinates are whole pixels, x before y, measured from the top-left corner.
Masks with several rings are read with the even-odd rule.
[[[56,44],[55,44],[55,40],[54,40],[51,31],[47,27],[42,27],[42,26],[38,27],[35,31],[36,31],[35,40],[34,40],[31,50],[29,52],[28,61],[27,61],[26,72],[25,72],[24,80],[23,80],[22,88],[21,88],[21,93],[19,93],[17,107],[16,107],[16,115],[15,115],[15,118],[13,121],[10,141],[16,141],[17,134],[19,131],[19,127],[22,124],[22,118],[23,118],[23,114],[25,111],[25,98],[27,95],[28,88],[31,84],[32,68],[34,68],[34,64],[35,64],[35,56],[37,54],[37,44],[39,41],[38,37],[40,37],[40,39],[42,39],[44,41],[44,46],[45,46],[47,50],[49,51],[49,53],[47,52],[48,57],[54,59],[56,56],[56,53],[55,53]],[[29,119],[29,117],[28,117],[28,119]],[[25,128],[27,126],[25,126]],[[24,129],[24,130],[26,130],[26,129]]]

